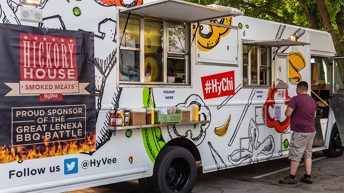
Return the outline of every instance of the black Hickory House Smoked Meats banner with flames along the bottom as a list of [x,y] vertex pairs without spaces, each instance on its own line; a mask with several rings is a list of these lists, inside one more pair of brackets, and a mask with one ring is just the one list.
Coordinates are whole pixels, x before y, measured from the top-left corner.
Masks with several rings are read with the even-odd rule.
[[93,34],[9,24],[0,34],[0,162],[94,151]]

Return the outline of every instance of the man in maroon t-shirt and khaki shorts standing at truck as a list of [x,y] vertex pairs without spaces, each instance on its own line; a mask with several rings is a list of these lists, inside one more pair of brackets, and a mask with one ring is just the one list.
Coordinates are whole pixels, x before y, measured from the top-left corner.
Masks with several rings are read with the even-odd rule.
[[284,115],[290,117],[291,135],[289,144],[290,174],[280,180],[281,184],[296,184],[296,170],[299,167],[301,158],[304,158],[306,174],[301,177],[301,181],[311,184],[312,169],[312,144],[315,137],[316,102],[307,94],[308,84],[301,81],[297,85],[296,94],[290,99]]

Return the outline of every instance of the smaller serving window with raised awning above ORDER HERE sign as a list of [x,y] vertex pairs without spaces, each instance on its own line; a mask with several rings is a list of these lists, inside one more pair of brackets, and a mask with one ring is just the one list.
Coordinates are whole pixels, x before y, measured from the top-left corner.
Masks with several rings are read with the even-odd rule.
[[[243,85],[272,86],[272,83],[275,82],[277,83],[275,88],[288,88],[288,54],[277,51],[273,53],[272,48],[277,47],[279,50],[281,47],[299,45],[310,44],[284,39],[243,41]],[[272,72],[272,69],[275,69],[275,72]]]

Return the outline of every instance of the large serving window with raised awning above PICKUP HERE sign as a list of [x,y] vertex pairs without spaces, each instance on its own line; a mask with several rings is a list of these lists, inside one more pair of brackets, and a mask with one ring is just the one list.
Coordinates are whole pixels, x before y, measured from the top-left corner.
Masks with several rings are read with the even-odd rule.
[[191,85],[192,23],[235,15],[181,0],[120,9],[118,86]]

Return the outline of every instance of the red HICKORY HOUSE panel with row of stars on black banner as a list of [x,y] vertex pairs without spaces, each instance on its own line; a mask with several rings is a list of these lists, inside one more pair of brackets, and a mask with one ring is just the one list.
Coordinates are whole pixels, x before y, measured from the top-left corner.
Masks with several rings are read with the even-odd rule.
[[21,81],[77,81],[75,37],[20,34]]

